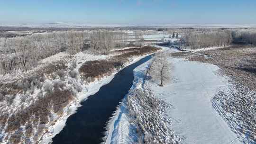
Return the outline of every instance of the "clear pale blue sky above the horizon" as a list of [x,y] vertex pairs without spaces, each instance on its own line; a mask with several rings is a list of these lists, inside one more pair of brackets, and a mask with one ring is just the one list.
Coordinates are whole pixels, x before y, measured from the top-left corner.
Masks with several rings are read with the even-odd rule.
[[256,0],[0,0],[0,23],[256,23]]

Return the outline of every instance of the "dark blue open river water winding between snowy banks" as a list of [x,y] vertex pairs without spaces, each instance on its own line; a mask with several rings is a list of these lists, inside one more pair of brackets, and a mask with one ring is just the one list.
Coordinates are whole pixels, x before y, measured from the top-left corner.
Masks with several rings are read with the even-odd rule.
[[68,117],[64,129],[53,138],[53,144],[99,144],[104,136],[106,122],[116,110],[119,102],[131,88],[133,70],[151,58],[146,56],[115,74],[110,83],[82,102],[77,113]]

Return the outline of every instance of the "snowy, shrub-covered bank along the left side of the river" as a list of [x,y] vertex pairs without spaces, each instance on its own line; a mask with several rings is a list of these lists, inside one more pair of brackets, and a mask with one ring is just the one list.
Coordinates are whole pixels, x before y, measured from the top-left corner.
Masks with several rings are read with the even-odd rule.
[[[146,48],[145,48],[146,49]],[[130,58],[123,59],[119,67],[111,67],[110,72],[101,73],[87,81],[79,72],[80,67],[89,61],[106,61],[113,56],[125,54],[117,52],[110,55],[92,55],[78,53],[73,57],[64,56],[59,61],[47,62],[26,76],[0,84],[1,94],[6,91],[10,101],[0,101],[0,140],[2,144],[11,142],[48,143],[64,127],[66,118],[80,106],[80,102],[100,89],[101,85],[111,80],[111,75],[122,67],[135,62],[147,54],[134,49]],[[143,48],[141,49],[143,50]],[[155,49],[156,50],[156,49]],[[63,55],[63,54],[60,54]],[[129,56],[127,53],[126,56]],[[105,70],[104,70],[105,71]],[[8,79],[8,77],[5,77]],[[105,81],[102,81],[105,80]],[[24,84],[25,83],[25,84]],[[15,94],[13,96],[13,94]],[[12,113],[9,116],[9,113]],[[4,128],[7,126],[7,129]]]

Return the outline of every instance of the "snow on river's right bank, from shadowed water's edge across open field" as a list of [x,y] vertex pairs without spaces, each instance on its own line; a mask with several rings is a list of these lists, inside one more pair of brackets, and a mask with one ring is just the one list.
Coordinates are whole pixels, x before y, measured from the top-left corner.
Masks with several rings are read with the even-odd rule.
[[[168,52],[166,50],[165,52]],[[175,50],[170,50],[170,55]],[[171,81],[169,81],[164,87],[159,87],[154,81],[145,80],[145,72],[150,62],[145,63],[135,70],[134,74],[143,79],[134,80],[134,86],[132,89],[141,90],[141,87],[147,87],[155,99],[163,100],[161,104],[167,104],[169,108],[162,108],[161,105],[157,108],[165,109],[164,112],[159,112],[158,117],[167,119],[161,120],[154,124],[157,119],[148,119],[148,116],[154,117],[153,113],[145,115],[146,125],[154,127],[156,130],[157,126],[167,126],[170,128],[170,134],[166,135],[161,132],[161,128],[156,130],[154,135],[150,133],[144,133],[142,137],[146,141],[156,142],[161,136],[155,137],[156,135],[163,135],[163,138],[170,138],[170,143],[186,143],[186,144],[241,144],[242,139],[237,138],[229,124],[219,115],[219,112],[215,109],[212,99],[215,94],[220,90],[230,88],[232,83],[229,83],[227,77],[223,77],[218,74],[219,67],[207,64],[187,61],[182,58],[168,58],[171,63]],[[143,76],[144,75],[144,76]],[[144,81],[144,82],[143,82]],[[131,89],[131,91],[132,91]],[[140,96],[148,99],[148,96],[137,92],[132,97],[132,105],[136,104],[136,101],[140,101]],[[132,117],[134,116],[134,110],[128,108],[127,100],[124,99],[123,103],[119,107],[114,120],[110,124],[110,135],[106,140],[106,144],[119,144],[121,142],[138,142],[141,133],[138,131],[139,126],[144,126],[144,123],[139,123],[137,126]],[[154,100],[157,101],[157,100]],[[143,104],[146,106],[150,103]],[[141,105],[142,106],[142,105]],[[142,106],[142,107],[143,107]],[[137,111],[135,113],[138,118],[141,119],[141,113],[139,103],[137,103]],[[154,107],[153,107],[154,108]],[[143,109],[143,108],[142,108]],[[145,112],[146,110],[144,110]],[[151,111],[157,111],[156,108]],[[164,115],[163,115],[164,114]],[[156,114],[155,114],[156,115]],[[168,119],[170,121],[168,121]],[[143,122],[143,121],[140,121]],[[167,123],[167,125],[165,125]],[[165,130],[166,131],[166,130]],[[135,135],[135,136],[134,136]],[[155,139],[156,138],[156,139]],[[165,139],[162,139],[165,140]],[[145,142],[145,141],[144,141]]]

